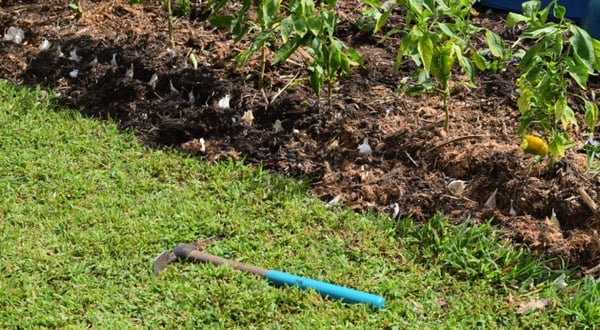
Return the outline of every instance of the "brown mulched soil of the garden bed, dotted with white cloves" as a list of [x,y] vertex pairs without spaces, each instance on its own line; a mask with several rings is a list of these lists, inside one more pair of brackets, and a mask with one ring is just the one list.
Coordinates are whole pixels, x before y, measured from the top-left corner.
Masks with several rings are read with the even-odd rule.
[[[268,68],[261,91],[258,62],[241,69],[232,62],[247,44],[234,44],[228,31],[211,27],[197,8],[175,21],[176,47],[170,52],[165,11],[156,1],[82,3],[78,17],[68,1],[0,1],[0,30],[16,26],[25,32],[22,44],[0,42],[0,79],[51,87],[63,104],[116,120],[150,146],[181,147],[203,161],[245,159],[308,178],[324,202],[418,221],[436,212],[453,221],[493,218],[516,244],[583,269],[600,263],[600,215],[582,197],[597,200],[600,184],[586,172],[581,146],[553,173],[523,154],[516,133],[517,71],[510,64],[499,73],[478,73],[477,89],[455,88],[451,129],[445,132],[439,98],[398,93],[412,70],[407,62],[394,73],[399,39],[380,44],[355,28],[359,1],[339,1],[338,36],[363,54],[365,67],[335,87],[331,106],[317,100],[308,83],[285,88],[295,75],[307,75],[301,55]],[[477,9],[476,24],[514,41],[515,31],[504,25],[506,13]],[[400,15],[392,22],[401,22]],[[44,39],[51,46],[41,51]],[[69,59],[73,50],[79,62]],[[197,70],[189,52],[198,59]],[[71,77],[74,69],[78,74]],[[592,88],[600,94],[598,80]],[[219,106],[227,95],[230,107]],[[249,110],[252,125],[242,119]],[[274,129],[276,121],[282,130]],[[372,155],[358,152],[365,137]],[[584,132],[580,137],[584,141]],[[453,179],[468,181],[462,195],[448,190]],[[494,192],[496,206],[486,207]],[[560,228],[547,220],[553,210]]]

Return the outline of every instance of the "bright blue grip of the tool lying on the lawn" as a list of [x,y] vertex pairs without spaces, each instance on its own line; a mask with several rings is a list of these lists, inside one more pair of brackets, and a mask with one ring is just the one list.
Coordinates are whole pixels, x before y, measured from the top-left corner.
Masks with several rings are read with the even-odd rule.
[[275,285],[296,286],[301,289],[315,289],[321,296],[340,299],[352,304],[368,304],[377,309],[383,308],[385,299],[382,296],[349,289],[343,286],[325,283],[306,277],[296,276],[278,270],[269,270],[265,277]]

